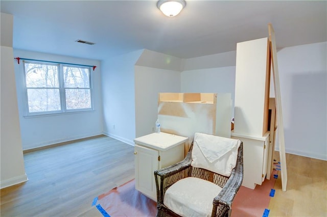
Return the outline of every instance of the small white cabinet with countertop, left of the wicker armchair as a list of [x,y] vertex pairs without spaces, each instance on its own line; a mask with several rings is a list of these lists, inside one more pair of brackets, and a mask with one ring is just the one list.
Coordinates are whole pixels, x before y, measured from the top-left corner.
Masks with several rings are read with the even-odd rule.
[[151,133],[134,139],[135,189],[157,200],[154,171],[184,159],[186,137],[165,132]]

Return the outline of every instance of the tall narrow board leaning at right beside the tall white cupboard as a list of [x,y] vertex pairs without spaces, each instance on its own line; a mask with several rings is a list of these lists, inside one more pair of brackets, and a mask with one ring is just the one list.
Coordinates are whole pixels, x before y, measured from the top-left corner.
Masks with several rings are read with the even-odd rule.
[[281,160],[281,174],[282,174],[282,190],[286,192],[287,185],[287,169],[286,169],[286,155],[285,155],[285,140],[284,140],[284,125],[282,115],[282,99],[281,99],[281,87],[279,85],[279,74],[277,65],[277,50],[275,32],[272,28],[272,24],[268,24],[269,41],[270,41],[270,52],[272,61],[272,71],[274,78],[274,89],[275,89],[275,103],[276,103],[276,116],[277,116],[277,127],[278,127],[278,141],[279,141],[279,157]]

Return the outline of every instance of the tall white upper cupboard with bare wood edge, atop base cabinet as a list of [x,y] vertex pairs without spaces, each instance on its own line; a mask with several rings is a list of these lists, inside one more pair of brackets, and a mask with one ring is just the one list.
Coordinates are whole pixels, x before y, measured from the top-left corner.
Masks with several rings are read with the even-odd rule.
[[262,137],[268,129],[268,38],[237,44],[235,78],[235,125],[239,134]]

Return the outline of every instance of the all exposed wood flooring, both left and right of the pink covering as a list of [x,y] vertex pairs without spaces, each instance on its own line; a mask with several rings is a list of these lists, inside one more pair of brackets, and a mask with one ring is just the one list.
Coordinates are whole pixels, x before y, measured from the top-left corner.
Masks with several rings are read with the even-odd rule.
[[[134,147],[100,137],[24,154],[29,181],[1,190],[0,216],[92,216],[95,197],[134,178]],[[278,159],[278,153],[275,153]],[[269,216],[327,216],[327,161],[286,154]]]

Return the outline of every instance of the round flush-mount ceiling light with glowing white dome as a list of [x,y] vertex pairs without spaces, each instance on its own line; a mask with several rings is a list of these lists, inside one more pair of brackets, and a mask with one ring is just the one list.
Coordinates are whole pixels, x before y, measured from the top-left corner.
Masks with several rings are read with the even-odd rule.
[[169,17],[179,14],[185,5],[186,2],[184,0],[159,0],[157,3],[160,11]]

